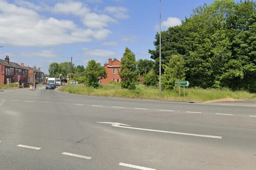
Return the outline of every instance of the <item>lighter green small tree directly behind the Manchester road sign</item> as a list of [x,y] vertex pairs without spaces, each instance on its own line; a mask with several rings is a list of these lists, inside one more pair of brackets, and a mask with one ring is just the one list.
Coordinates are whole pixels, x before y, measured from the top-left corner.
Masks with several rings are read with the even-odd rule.
[[162,89],[172,90],[175,81],[185,80],[184,59],[181,55],[172,55],[170,62],[167,65],[163,65],[163,67]]

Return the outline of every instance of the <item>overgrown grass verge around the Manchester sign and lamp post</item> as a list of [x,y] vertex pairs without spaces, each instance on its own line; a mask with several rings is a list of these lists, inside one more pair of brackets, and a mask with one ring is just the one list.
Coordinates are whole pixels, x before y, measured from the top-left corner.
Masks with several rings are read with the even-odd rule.
[[[106,97],[121,97],[121,98],[139,98],[139,99],[159,99],[159,91],[156,87],[147,87],[144,85],[137,85],[136,90],[122,89],[119,85],[102,85],[98,89],[84,86],[65,85],[59,91],[90,95],[90,96],[106,96]],[[183,98],[183,88],[172,91],[162,91],[161,100],[177,100],[177,101],[195,101],[195,102],[209,102],[209,101],[232,101],[240,99],[256,98],[255,93],[247,91],[230,91],[217,89],[200,89],[200,88],[185,88],[185,98]]]

